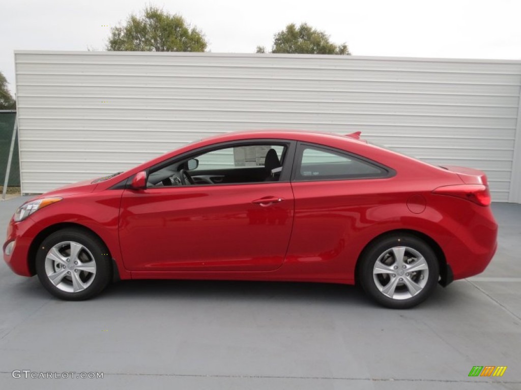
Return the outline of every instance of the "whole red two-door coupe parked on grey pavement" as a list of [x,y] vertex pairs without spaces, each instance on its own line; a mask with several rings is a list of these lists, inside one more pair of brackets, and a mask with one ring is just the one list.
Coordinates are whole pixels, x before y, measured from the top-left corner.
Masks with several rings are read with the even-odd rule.
[[497,247],[486,175],[359,133],[229,133],[24,203],[4,259],[65,300],[114,279],[359,284],[409,308]]

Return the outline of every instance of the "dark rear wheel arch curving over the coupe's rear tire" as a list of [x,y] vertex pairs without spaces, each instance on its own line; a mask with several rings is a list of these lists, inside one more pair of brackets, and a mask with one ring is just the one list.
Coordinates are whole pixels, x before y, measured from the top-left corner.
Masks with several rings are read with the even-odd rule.
[[373,245],[376,241],[381,240],[384,237],[387,236],[394,236],[394,235],[410,235],[414,236],[416,238],[419,238],[426,242],[427,245],[430,246],[430,248],[434,251],[436,254],[436,258],[438,259],[438,264],[440,266],[440,281],[439,283],[445,287],[449,283],[452,282],[453,276],[452,276],[452,270],[451,267],[447,264],[445,253],[441,249],[441,246],[431,238],[430,236],[426,235],[423,232],[420,232],[418,230],[413,229],[395,229],[395,230],[389,230],[384,233],[381,233],[380,235],[376,236],[372,240],[370,240],[365,246],[362,252],[358,255],[358,258],[356,259],[356,265],[355,265],[355,283],[358,284],[359,280],[359,268],[362,263],[362,258],[364,257],[365,253],[369,250],[371,245]]

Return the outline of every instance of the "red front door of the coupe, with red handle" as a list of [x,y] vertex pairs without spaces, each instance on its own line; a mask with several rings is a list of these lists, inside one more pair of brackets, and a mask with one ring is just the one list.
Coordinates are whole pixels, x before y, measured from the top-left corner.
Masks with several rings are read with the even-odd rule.
[[166,185],[162,173],[175,172],[176,176],[183,166],[187,165],[178,161],[155,173],[152,169],[150,177],[156,179],[146,189],[123,192],[119,236],[125,267],[132,271],[270,271],[280,267],[294,209],[289,179],[279,181],[286,175],[270,179],[255,174],[253,183],[244,183],[248,180],[242,176],[241,183],[228,179],[227,184],[210,184],[212,177],[227,180],[232,167],[210,172],[212,167],[206,163],[199,170],[204,175],[197,169],[188,171],[192,184],[181,185],[173,177],[168,179],[172,185]]

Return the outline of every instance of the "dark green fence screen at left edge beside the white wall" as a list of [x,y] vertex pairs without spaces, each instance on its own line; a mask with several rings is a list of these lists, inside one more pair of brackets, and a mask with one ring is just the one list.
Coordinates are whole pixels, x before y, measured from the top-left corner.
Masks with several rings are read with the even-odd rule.
[[[9,148],[11,138],[15,129],[16,111],[0,111],[0,186],[4,185],[7,160],[9,159]],[[18,159],[18,134],[16,135],[13,161],[11,161],[11,172],[9,174],[9,187],[20,186],[20,161]]]

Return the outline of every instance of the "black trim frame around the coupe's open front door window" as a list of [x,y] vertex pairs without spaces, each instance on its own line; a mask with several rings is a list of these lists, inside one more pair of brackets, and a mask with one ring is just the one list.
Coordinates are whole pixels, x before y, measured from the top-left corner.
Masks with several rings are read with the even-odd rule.
[[[203,188],[203,187],[214,187],[214,186],[240,186],[240,185],[255,185],[255,184],[275,184],[275,183],[290,183],[291,182],[291,173],[293,170],[293,161],[295,157],[295,149],[297,142],[290,139],[282,139],[282,138],[251,138],[251,139],[241,139],[234,141],[226,141],[219,142],[218,144],[207,145],[201,148],[197,148],[194,150],[190,150],[188,152],[184,152],[182,154],[171,157],[167,160],[164,160],[155,165],[149,166],[144,171],[146,172],[146,176],[150,174],[151,171],[161,170],[164,167],[179,162],[181,160],[189,160],[191,158],[197,158],[197,155],[212,152],[219,149],[226,149],[230,147],[237,146],[250,146],[250,145],[283,145],[288,149],[284,155],[284,163],[282,164],[282,172],[279,180],[277,181],[251,181],[247,183],[215,183],[215,184],[197,184],[191,186],[165,186],[165,187],[146,187],[146,190],[165,190],[167,188]],[[130,180],[128,181],[126,188],[129,188]]]

